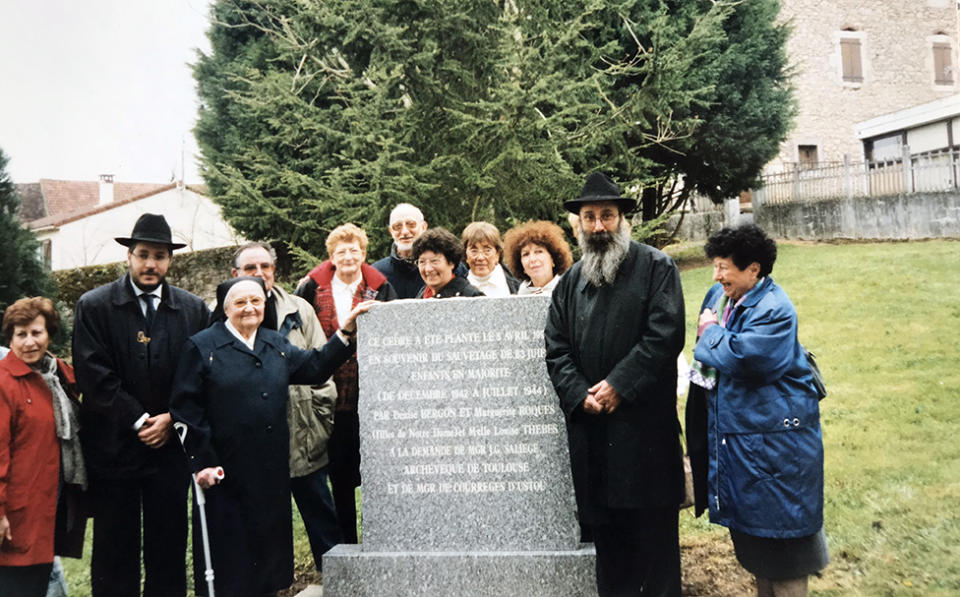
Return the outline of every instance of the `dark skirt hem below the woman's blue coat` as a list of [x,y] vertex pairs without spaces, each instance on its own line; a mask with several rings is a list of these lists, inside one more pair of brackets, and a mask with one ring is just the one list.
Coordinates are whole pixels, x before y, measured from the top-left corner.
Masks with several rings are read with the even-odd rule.
[[800,578],[820,572],[830,563],[823,529],[796,539],[769,539],[730,529],[730,538],[740,565],[760,578]]

